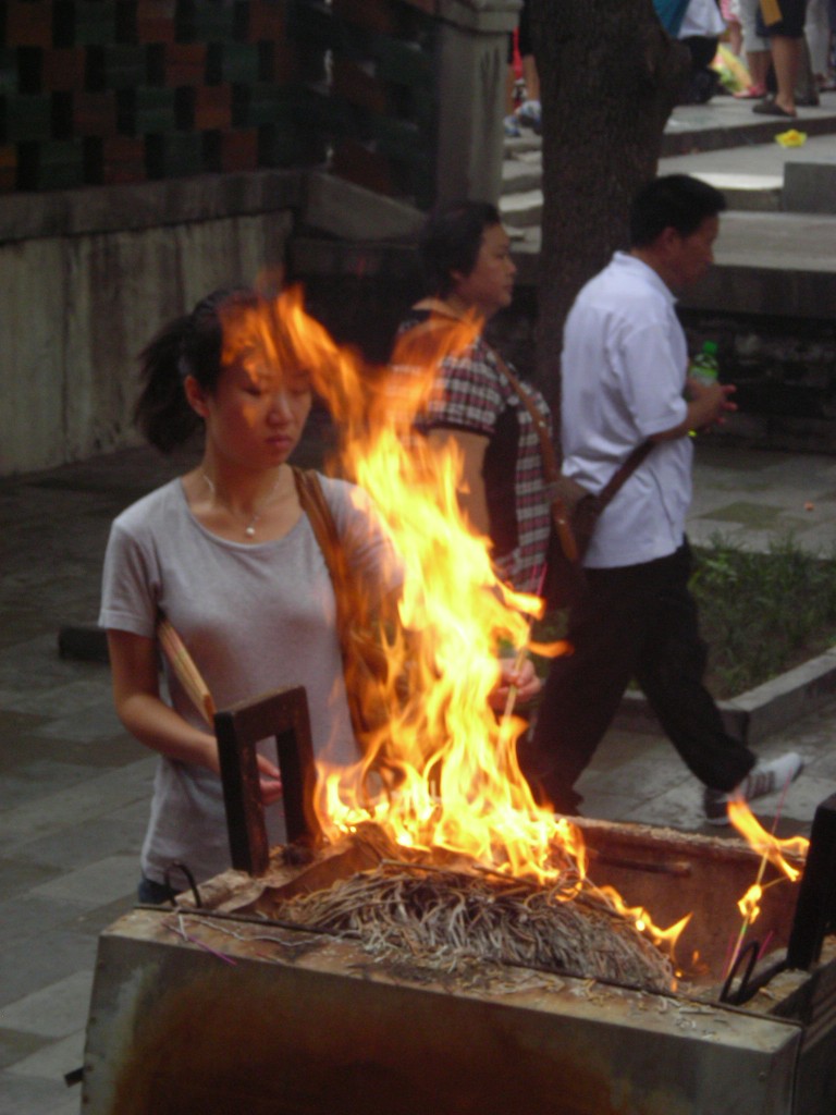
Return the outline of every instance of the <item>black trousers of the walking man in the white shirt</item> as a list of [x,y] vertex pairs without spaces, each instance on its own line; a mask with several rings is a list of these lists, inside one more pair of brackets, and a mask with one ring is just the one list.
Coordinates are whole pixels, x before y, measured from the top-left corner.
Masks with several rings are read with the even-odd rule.
[[707,648],[688,588],[691,565],[686,542],[657,561],[586,571],[586,590],[570,617],[574,653],[552,663],[533,737],[519,745],[536,796],[557,812],[577,811],[574,784],[632,679],[704,785],[730,791],[754,766],[702,681]]

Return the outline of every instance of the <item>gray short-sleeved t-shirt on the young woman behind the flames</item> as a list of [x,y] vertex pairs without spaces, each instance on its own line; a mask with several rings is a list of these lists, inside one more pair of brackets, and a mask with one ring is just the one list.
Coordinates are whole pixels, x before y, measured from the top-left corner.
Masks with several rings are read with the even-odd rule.
[[[377,593],[396,588],[398,562],[368,497],[343,481],[323,476],[321,483],[352,571]],[[217,708],[303,685],[317,758],[357,759],[333,588],[305,515],[282,539],[242,544],[197,522],[179,479],[139,500],[110,531],[99,624],[153,638],[158,609],[183,639]],[[165,672],[173,707],[205,730],[167,663]],[[263,747],[270,754],[269,744]],[[268,808],[266,821],[271,843],[281,842],[281,803]],[[143,872],[163,882],[174,860],[197,882],[230,866],[223,791],[204,767],[159,756]]]

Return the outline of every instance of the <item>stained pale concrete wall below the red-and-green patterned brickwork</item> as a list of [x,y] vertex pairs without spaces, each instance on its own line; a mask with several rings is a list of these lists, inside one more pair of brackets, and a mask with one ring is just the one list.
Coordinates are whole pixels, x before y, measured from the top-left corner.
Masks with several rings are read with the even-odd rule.
[[[216,180],[214,204],[201,180],[121,190],[110,206],[100,191],[78,191],[69,207],[70,195],[54,195],[51,209],[38,198],[40,235],[19,207],[26,239],[13,236],[9,207],[0,230],[0,475],[134,444],[143,346],[208,291],[283,264],[297,176],[246,177],[251,193],[272,186],[275,207],[247,212],[246,184],[235,178]],[[200,219],[181,204],[195,192]]]

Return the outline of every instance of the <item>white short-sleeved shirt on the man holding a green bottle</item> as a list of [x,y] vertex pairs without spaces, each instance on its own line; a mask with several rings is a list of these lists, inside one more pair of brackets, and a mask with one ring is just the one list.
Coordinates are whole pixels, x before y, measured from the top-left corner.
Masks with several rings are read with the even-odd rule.
[[[599,492],[630,452],[684,421],[688,349],[662,279],[616,252],[581,290],[563,346],[563,472]],[[585,564],[615,568],[679,549],[691,502],[691,438],[660,442],[595,527]]]

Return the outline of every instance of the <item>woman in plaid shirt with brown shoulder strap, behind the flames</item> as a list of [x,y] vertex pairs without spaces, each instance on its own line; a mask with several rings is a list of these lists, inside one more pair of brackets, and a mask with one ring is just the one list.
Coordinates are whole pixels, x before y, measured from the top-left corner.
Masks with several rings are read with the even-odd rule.
[[[412,307],[399,330],[443,329],[476,317],[482,324],[511,304],[516,265],[499,213],[485,202],[451,202],[427,221],[420,239],[428,298]],[[514,372],[479,331],[445,357],[431,397],[416,420],[430,444],[454,439],[464,459],[460,503],[473,527],[487,535],[504,580],[523,592],[542,584],[551,530],[541,436],[514,384]],[[400,367],[398,370],[408,371]],[[525,394],[551,435],[542,395]]]

